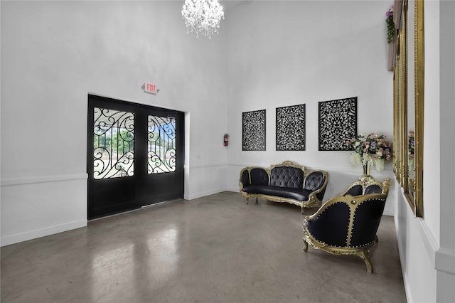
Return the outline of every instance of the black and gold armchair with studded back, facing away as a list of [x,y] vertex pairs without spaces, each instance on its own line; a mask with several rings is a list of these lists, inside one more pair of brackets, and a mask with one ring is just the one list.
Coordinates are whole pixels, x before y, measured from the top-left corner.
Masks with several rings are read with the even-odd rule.
[[389,187],[389,179],[382,184],[356,182],[341,196],[324,203],[319,211],[306,216],[303,221],[304,251],[308,252],[309,244],[333,255],[357,255],[365,261],[368,272],[372,273],[373,264],[368,254],[375,241],[378,241],[376,232]]

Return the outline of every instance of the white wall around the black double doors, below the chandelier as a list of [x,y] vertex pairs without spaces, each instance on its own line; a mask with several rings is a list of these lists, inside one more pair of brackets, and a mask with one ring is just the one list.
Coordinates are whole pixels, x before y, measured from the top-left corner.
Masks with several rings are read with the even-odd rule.
[[225,187],[223,31],[187,35],[179,1],[0,5],[1,245],[86,225],[88,93],[186,112],[186,198]]

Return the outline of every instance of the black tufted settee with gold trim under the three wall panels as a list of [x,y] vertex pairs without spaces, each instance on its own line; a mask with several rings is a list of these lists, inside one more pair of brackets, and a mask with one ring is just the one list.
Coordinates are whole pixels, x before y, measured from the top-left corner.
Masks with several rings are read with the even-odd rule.
[[301,207],[321,206],[326,192],[328,173],[306,171],[305,166],[284,161],[270,169],[245,167],[240,171],[240,193],[247,199],[264,198],[269,201],[287,202]]

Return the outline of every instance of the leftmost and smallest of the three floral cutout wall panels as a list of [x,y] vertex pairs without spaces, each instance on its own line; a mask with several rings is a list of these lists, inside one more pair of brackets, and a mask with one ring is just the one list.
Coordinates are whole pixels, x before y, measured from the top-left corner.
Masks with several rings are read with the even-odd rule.
[[242,151],[265,150],[265,110],[242,112]]

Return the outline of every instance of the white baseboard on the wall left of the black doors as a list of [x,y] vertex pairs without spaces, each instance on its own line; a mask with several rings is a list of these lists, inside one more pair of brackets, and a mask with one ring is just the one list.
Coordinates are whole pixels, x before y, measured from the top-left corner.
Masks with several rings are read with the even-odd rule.
[[75,228],[82,228],[87,226],[87,220],[77,220],[73,222],[53,225],[37,230],[26,231],[25,233],[16,233],[15,235],[6,235],[1,237],[0,246],[11,245],[27,240],[45,237],[46,235],[53,235],[55,233],[62,233],[64,231],[72,230]]

